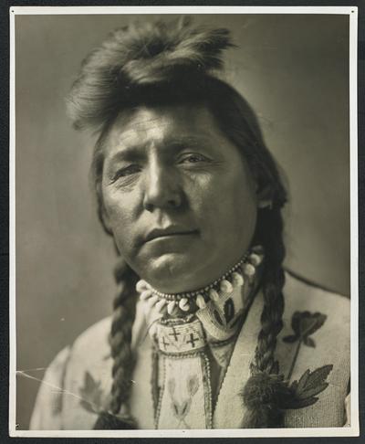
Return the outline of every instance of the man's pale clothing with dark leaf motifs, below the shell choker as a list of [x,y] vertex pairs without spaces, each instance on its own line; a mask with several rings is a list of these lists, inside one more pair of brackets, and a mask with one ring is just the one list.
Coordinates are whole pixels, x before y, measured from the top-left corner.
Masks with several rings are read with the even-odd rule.
[[[349,299],[288,273],[284,298],[284,328],[276,345],[280,373],[291,373],[290,381],[295,381],[308,369],[310,375],[319,367],[333,365],[328,387],[318,401],[287,409],[284,427],[349,426]],[[186,325],[157,325],[153,341],[138,302],[132,330],[137,364],[130,412],[139,428],[241,428],[242,389],[250,376],[261,328],[262,294],[256,293],[243,323],[235,322],[235,313],[242,311],[240,303],[235,294],[223,299],[222,307],[230,308],[221,311],[225,323],[218,333],[209,313],[199,311]],[[91,326],[57,354],[37,395],[31,429],[93,428],[110,396],[110,322],[107,318]],[[238,330],[231,334],[234,323]],[[222,337],[208,341],[214,334]],[[208,352],[221,368],[213,390]]]

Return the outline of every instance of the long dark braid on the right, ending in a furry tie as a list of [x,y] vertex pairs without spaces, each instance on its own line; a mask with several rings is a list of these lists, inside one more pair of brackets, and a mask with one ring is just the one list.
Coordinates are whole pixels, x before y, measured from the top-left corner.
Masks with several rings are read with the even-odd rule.
[[281,427],[283,412],[278,408],[280,396],[286,390],[275,359],[276,337],[283,327],[285,283],[282,266],[285,258],[283,219],[280,206],[260,210],[256,237],[266,251],[262,276],[264,309],[261,314],[261,331],[258,334],[251,376],[243,390],[246,407],[243,428]]

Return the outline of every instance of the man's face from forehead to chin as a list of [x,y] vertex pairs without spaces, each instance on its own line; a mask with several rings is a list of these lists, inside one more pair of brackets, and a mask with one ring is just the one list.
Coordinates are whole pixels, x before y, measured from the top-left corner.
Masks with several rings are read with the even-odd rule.
[[138,108],[105,142],[105,222],[130,267],[163,292],[219,278],[249,248],[255,182],[207,108]]

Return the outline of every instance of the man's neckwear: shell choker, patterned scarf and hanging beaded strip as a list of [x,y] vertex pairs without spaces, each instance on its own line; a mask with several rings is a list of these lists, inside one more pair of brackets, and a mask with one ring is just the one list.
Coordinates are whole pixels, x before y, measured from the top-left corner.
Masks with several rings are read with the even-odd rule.
[[[255,247],[201,290],[165,294],[140,281],[154,344],[151,388],[156,428],[212,428],[214,400],[255,289]],[[214,375],[212,374],[214,366]]]

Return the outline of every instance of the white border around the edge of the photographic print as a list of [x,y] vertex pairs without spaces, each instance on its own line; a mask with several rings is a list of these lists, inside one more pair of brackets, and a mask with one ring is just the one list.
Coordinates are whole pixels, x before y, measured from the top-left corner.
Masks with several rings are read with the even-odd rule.
[[[327,14],[349,16],[350,329],[351,418],[344,428],[224,428],[179,430],[16,429],[16,62],[15,17],[40,15]],[[289,438],[356,437],[359,425],[359,227],[358,227],[358,8],[356,6],[13,6],[10,15],[9,153],[9,435],[37,438]]]

